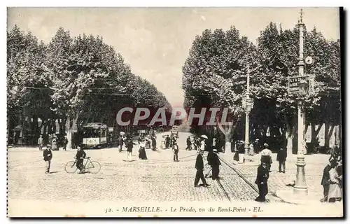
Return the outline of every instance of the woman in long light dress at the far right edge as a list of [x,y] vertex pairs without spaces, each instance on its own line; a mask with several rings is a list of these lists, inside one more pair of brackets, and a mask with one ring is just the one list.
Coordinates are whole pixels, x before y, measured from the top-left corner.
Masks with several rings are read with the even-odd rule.
[[342,200],[342,188],[340,187],[340,180],[342,177],[338,176],[337,173],[337,161],[332,160],[330,162],[330,185],[328,189],[328,202],[339,202]]

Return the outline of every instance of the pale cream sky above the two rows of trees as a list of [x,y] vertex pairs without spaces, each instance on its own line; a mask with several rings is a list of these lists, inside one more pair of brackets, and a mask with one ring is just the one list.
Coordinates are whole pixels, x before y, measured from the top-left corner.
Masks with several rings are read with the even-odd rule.
[[[303,8],[307,29],[339,38],[338,8]],[[8,30],[18,25],[48,43],[59,27],[71,36],[102,36],[130,64],[132,73],[153,83],[173,107],[183,106],[182,66],[195,36],[205,29],[235,26],[256,43],[269,22],[292,29],[300,8],[8,8]]]

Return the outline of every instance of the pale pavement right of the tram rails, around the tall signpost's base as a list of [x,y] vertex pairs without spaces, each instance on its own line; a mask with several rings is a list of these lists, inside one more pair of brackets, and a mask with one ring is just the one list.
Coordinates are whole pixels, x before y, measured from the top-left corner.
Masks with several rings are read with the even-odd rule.
[[[233,164],[234,167],[240,172],[250,183],[255,182],[256,172],[260,163],[260,155],[253,156],[253,162],[243,163],[243,154],[239,154],[239,162],[234,162],[234,153],[221,153],[219,156],[223,160]],[[323,174],[323,168],[327,165],[329,155],[314,154],[305,155],[305,179],[308,188],[307,200],[319,202],[323,197],[323,186],[321,186],[321,179]],[[297,155],[288,155],[286,161],[286,174],[279,173],[279,163],[276,161],[276,153],[272,155],[272,172],[269,173],[269,192],[272,195],[280,197],[281,200],[290,203],[300,203],[298,200],[294,200],[293,197],[293,185],[296,177],[297,167],[295,165],[297,161]]]

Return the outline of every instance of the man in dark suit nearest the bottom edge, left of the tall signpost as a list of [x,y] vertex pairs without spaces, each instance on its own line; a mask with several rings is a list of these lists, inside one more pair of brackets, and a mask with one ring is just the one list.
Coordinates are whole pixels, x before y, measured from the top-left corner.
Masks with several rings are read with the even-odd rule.
[[258,172],[255,179],[255,184],[259,189],[259,196],[255,199],[257,202],[265,202],[266,195],[269,192],[267,188],[267,180],[269,179],[269,169],[267,167],[267,163],[262,162],[258,167]]

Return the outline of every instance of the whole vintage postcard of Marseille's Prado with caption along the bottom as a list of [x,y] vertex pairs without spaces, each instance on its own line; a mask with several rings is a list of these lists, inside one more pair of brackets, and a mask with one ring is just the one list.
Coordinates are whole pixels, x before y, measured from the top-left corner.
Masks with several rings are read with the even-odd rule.
[[342,8],[8,8],[8,217],[343,217]]

